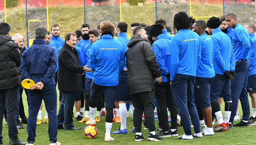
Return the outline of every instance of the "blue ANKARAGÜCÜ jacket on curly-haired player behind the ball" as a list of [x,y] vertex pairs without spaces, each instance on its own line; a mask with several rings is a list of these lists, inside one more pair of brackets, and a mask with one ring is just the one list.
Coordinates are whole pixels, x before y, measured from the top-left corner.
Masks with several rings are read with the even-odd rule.
[[109,34],[103,35],[92,44],[89,56],[93,81],[100,86],[116,86],[125,65],[123,44]]

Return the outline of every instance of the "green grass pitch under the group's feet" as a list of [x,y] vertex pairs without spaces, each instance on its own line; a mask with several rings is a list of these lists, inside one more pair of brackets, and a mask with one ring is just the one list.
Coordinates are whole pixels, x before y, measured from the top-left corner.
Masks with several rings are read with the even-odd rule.
[[[23,92],[23,104],[25,108],[25,114],[28,116],[28,106],[26,102],[26,94]],[[250,101],[250,97],[249,97]],[[59,105],[57,103],[57,108],[59,108]],[[75,109],[75,108],[74,108]],[[224,103],[221,104],[221,110],[224,115]],[[251,110],[252,111],[252,110]],[[42,111],[42,118],[44,119],[44,112],[45,107],[43,107]],[[58,113],[58,112],[57,112]],[[76,110],[74,110],[74,114],[76,114]],[[239,108],[239,114],[240,117],[242,116],[242,110],[241,105]],[[3,121],[5,122],[5,121]],[[234,121],[234,124],[238,123],[239,121]],[[134,144],[134,136],[135,133],[132,133],[132,117],[130,114],[130,117],[127,118],[127,129],[128,134],[112,134],[111,136],[115,139],[111,142],[104,142],[105,138],[105,116],[101,117],[100,122],[96,122],[96,128],[98,129],[98,136],[96,139],[87,139],[84,137],[83,129],[86,127],[85,123],[78,123],[75,118],[73,118],[73,123],[75,127],[82,128],[81,130],[76,131],[66,131],[66,130],[58,130],[58,142],[61,142],[61,145],[102,145],[102,144],[112,144],[112,145],[131,145]],[[158,128],[157,125],[158,122],[155,122],[156,128]],[[26,124],[23,124],[25,127]],[[171,125],[171,124],[170,124]],[[142,125],[143,126],[143,125]],[[118,130],[120,127],[120,124],[113,123],[112,131]],[[144,126],[143,126],[144,127]],[[203,128],[202,128],[203,129]],[[193,140],[177,140],[177,136],[162,138],[163,140],[160,142],[151,142],[147,140],[148,130],[142,130],[142,133],[145,137],[145,140],[141,142],[136,142],[140,145],[153,145],[153,144],[177,144],[177,145],[229,145],[229,144],[236,144],[236,145],[253,145],[256,143],[256,135],[255,135],[256,125],[252,125],[251,127],[237,127],[233,128],[230,131],[225,131],[221,133],[215,133],[214,136],[204,136],[203,138],[195,138]],[[19,129],[19,138],[22,141],[26,141],[28,134],[26,129]],[[192,128],[192,133],[193,133]],[[178,133],[179,135],[182,135],[184,133],[182,126],[178,127]],[[3,123],[3,133],[2,133],[4,142],[6,145],[9,143],[9,136],[8,136],[8,128],[7,125],[4,125]],[[49,137],[48,137],[48,124],[43,123],[42,125],[37,125],[36,130],[36,142],[35,145],[47,145],[49,144]]]

